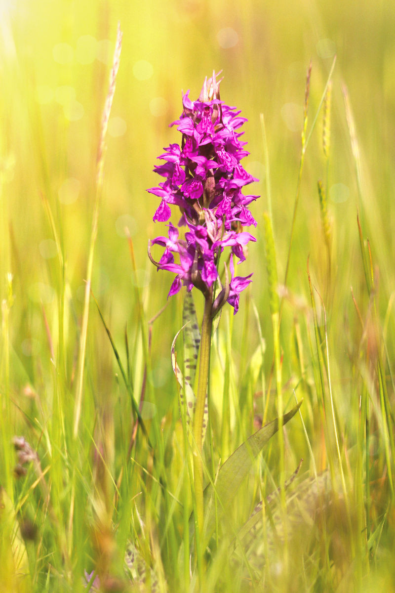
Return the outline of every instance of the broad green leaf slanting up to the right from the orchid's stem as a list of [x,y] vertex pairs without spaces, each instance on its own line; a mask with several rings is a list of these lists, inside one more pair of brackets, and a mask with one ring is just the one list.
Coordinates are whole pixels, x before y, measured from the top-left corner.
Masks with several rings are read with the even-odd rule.
[[[300,408],[303,400],[295,406],[290,412],[282,417],[284,426]],[[236,451],[230,455],[225,463],[220,467],[215,486],[208,484],[204,490],[205,501],[205,543],[208,542],[214,532],[216,521],[223,517],[230,503],[236,496],[240,484],[253,466],[253,461],[262,450],[266,442],[278,431],[278,418],[272,420],[259,431],[250,436]],[[217,497],[218,504],[214,504],[214,496]],[[216,517],[217,514],[217,517]]]

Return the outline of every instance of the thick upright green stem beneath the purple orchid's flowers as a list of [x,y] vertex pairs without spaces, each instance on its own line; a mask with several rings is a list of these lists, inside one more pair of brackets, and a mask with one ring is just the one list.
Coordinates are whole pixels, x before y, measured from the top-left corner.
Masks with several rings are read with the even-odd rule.
[[196,445],[194,450],[194,487],[196,500],[195,525],[197,524],[200,537],[203,534],[204,521],[202,431],[205,396],[207,394],[208,370],[210,368],[211,333],[213,331],[213,319],[211,317],[212,307],[213,304],[211,294],[208,294],[207,297],[205,297],[203,323],[201,327],[199,375],[196,393],[196,408],[193,422],[193,435]]

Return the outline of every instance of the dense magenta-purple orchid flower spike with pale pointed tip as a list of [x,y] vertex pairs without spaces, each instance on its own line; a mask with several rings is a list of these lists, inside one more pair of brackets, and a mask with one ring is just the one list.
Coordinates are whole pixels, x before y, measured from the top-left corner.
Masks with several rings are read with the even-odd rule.
[[[258,181],[240,165],[249,154],[240,141],[239,128],[246,122],[240,111],[220,100],[219,83],[213,77],[205,79],[200,97],[191,101],[189,91],[182,97],[184,109],[176,125],[182,133],[181,146],[171,144],[158,157],[165,161],[154,169],[165,180],[148,191],[161,199],[154,221],[165,222],[171,216],[169,205],[182,212],[178,227],[186,226],[184,238],[169,222],[168,237],[157,237],[150,244],[159,244],[165,251],[159,262],[151,261],[161,270],[174,272],[169,296],[182,285],[190,291],[196,286],[208,297],[219,282],[221,291],[213,304],[213,315],[225,302],[239,308],[239,295],[251,282],[251,276],[235,276],[234,258],[243,262],[246,244],[255,241],[243,227],[256,226],[248,209],[259,196],[245,196],[244,186]],[[225,247],[230,247],[230,273],[225,265],[223,282],[219,277],[219,260]],[[177,254],[175,262],[174,254]]]

